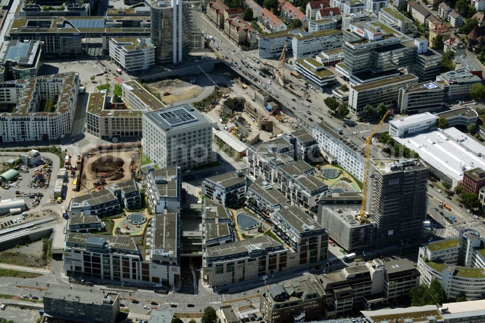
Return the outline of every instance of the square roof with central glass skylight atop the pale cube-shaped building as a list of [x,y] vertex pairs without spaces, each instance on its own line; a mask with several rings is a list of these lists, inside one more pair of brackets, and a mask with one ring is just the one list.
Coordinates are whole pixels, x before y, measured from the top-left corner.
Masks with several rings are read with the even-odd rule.
[[189,129],[201,125],[212,125],[212,122],[189,103],[184,103],[162,111],[152,111],[144,114],[165,132]]

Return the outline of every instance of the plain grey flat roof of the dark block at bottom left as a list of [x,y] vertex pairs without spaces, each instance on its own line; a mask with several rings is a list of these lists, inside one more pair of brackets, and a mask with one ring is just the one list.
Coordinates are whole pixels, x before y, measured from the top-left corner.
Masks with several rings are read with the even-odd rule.
[[114,302],[119,294],[115,292],[101,294],[93,293],[90,291],[81,291],[77,289],[71,290],[68,288],[58,287],[49,287],[49,289],[44,294],[44,298],[48,297],[53,299],[65,300],[67,302],[94,304],[99,306],[103,304],[103,300],[107,296],[111,297],[111,301]]

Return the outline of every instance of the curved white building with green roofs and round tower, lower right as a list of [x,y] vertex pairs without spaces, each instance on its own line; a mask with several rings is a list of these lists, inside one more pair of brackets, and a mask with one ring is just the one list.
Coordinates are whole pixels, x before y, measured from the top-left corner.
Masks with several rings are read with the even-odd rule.
[[471,228],[458,237],[427,243],[420,247],[418,270],[421,284],[438,280],[449,299],[465,293],[467,300],[481,299],[485,288],[484,239]]

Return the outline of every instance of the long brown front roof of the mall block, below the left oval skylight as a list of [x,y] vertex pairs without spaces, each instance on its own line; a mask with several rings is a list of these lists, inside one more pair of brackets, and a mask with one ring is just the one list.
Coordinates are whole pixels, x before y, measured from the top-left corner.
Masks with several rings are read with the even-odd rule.
[[[98,247],[104,249],[120,249],[139,251],[137,245],[131,237],[115,237],[115,236],[103,236],[103,235],[91,235],[88,233],[68,233],[66,242],[76,243],[78,245],[83,244],[84,248],[89,248],[90,243],[97,244]],[[86,244],[88,244],[86,246]]]

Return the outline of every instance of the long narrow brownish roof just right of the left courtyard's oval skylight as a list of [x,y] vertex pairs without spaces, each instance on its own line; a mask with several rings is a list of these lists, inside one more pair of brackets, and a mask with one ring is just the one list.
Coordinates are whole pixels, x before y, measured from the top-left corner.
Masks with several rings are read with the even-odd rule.
[[151,251],[177,257],[177,213],[155,214],[153,216]]

